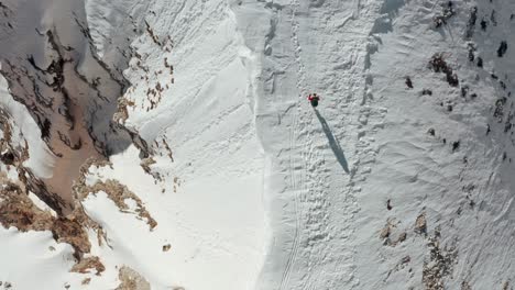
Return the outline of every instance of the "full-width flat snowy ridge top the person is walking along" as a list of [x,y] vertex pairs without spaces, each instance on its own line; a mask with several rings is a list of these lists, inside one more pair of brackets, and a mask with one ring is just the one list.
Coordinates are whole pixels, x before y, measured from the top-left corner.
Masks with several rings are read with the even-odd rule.
[[[269,157],[274,242],[256,287],[350,289],[358,285],[355,154],[369,150],[355,138],[364,132],[358,114],[375,3],[248,2],[234,11],[261,59],[256,129]],[[321,96],[318,110],[306,100],[310,92]]]

